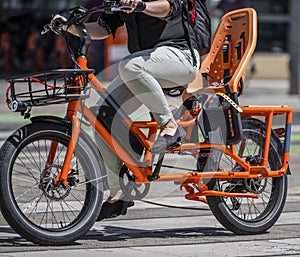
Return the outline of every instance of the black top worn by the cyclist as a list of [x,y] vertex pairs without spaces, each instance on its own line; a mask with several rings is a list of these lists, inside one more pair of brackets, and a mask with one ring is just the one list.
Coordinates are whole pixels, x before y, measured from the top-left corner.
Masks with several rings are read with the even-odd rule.
[[[172,12],[164,19],[138,12],[131,14],[118,12],[103,13],[99,17],[98,23],[112,35],[115,34],[118,27],[125,23],[130,53],[159,46],[189,49],[183,28],[180,0],[173,0],[171,5]],[[196,48],[195,43],[193,46]]]

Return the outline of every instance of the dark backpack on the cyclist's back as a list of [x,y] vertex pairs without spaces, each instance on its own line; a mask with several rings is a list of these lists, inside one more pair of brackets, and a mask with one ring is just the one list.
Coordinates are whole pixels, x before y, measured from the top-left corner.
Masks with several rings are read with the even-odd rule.
[[200,55],[207,54],[211,45],[211,20],[206,6],[206,0],[183,0],[182,9],[183,20],[190,24],[188,28],[184,26],[190,47],[191,39],[189,30],[192,27]]

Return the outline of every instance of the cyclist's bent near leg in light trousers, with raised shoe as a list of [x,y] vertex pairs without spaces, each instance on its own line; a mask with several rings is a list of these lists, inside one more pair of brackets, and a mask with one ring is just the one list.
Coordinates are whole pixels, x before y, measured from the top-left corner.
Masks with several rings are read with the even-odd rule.
[[[198,58],[199,59],[199,58]],[[189,50],[158,47],[125,57],[119,63],[119,74],[133,94],[152,112],[161,133],[151,151],[158,153],[177,143],[184,136],[178,128],[162,88],[192,82],[198,72],[193,67]]]

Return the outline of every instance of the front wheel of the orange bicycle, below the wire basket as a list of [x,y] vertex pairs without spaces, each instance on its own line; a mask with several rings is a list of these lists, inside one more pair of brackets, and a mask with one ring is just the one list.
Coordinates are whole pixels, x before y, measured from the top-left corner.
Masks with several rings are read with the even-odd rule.
[[[69,186],[54,186],[70,139],[70,129],[34,122],[18,129],[0,152],[0,207],[8,224],[39,245],[66,245],[94,224],[103,200],[103,165],[80,135],[72,156]],[[57,142],[47,165],[51,142]]]

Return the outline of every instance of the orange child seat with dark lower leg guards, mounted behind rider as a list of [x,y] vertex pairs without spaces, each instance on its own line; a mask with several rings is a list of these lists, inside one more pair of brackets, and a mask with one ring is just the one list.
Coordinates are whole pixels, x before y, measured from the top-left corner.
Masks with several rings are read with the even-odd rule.
[[215,32],[210,52],[201,63],[198,77],[183,95],[183,100],[191,94],[202,97],[198,97],[203,104],[197,120],[209,143],[231,145],[242,139],[238,96],[243,91],[256,38],[254,9],[244,8],[225,14]]

